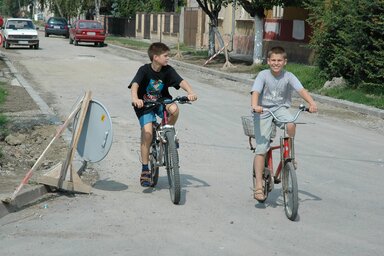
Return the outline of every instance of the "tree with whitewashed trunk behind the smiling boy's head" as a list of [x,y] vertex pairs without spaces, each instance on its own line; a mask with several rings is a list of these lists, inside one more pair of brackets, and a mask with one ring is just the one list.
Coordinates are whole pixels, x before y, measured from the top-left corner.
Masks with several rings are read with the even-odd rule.
[[[232,0],[234,1],[234,0]],[[255,19],[255,40],[253,48],[253,63],[261,64],[263,62],[263,34],[265,10],[270,10],[273,6],[297,6],[301,0],[236,0],[246,12]]]

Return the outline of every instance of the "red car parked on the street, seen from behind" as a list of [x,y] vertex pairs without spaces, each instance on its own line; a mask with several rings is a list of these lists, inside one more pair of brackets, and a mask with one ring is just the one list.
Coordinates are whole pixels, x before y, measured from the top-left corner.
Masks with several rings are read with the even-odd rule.
[[70,44],[78,45],[79,42],[87,42],[103,47],[105,38],[103,25],[95,20],[78,20],[69,29]]

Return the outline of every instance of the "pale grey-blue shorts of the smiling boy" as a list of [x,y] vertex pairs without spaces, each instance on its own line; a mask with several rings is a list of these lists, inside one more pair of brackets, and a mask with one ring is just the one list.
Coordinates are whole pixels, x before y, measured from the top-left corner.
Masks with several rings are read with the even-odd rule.
[[[288,111],[288,108],[279,108],[274,112],[275,116],[281,120],[291,120],[292,114]],[[255,139],[256,139],[256,150],[255,153],[262,155],[267,153],[270,147],[271,134],[272,134],[272,115],[266,117],[260,117],[260,114],[253,114]],[[280,129],[284,129],[284,124],[276,122],[275,124]]]

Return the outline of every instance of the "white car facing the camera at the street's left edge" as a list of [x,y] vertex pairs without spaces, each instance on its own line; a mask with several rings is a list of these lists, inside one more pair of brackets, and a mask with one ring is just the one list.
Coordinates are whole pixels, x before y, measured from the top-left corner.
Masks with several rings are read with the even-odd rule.
[[29,46],[39,49],[39,36],[31,19],[10,18],[2,30],[3,47],[11,45]]

